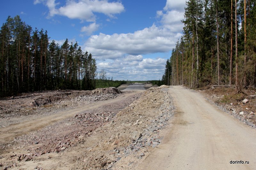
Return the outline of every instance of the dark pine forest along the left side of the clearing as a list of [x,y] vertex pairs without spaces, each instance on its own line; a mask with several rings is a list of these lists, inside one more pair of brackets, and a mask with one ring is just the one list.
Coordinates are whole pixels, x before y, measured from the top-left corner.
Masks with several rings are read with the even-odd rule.
[[6,19],[0,30],[0,96],[54,89],[95,89],[96,61],[77,42],[49,42],[47,31]]

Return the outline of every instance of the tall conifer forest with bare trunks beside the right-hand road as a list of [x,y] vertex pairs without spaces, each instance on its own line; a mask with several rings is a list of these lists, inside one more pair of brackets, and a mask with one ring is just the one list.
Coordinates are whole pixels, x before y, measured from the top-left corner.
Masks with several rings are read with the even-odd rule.
[[256,0],[189,0],[167,85],[256,87]]

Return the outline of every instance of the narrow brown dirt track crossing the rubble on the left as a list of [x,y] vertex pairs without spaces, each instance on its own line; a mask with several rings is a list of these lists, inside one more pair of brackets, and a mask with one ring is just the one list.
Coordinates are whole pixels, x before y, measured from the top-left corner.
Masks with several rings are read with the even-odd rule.
[[108,101],[100,101],[97,103],[83,105],[82,107],[78,107],[72,110],[60,111],[56,114],[35,118],[33,120],[28,120],[22,123],[11,124],[4,128],[0,128],[0,143],[7,143],[14,140],[15,137],[19,137],[24,134],[28,134],[31,131],[39,130],[47,125],[54,124],[59,122],[67,117],[71,117],[76,115],[77,113],[84,112],[86,110],[96,109],[103,105],[109,105],[111,103],[115,103],[120,100],[124,100],[129,96],[132,96],[139,92],[126,93],[124,95],[120,95],[114,99],[110,99]]

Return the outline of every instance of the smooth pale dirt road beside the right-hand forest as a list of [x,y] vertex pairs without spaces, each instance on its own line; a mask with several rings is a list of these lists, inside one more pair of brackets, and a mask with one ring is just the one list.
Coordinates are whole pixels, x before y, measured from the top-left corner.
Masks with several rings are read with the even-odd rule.
[[[138,169],[256,169],[256,130],[180,86],[170,94],[176,116],[163,144]],[[230,164],[230,161],[249,164]]]

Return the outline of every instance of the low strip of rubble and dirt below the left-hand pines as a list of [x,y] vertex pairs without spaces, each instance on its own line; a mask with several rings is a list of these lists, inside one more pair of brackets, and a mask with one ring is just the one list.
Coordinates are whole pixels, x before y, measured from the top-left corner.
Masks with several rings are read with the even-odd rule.
[[95,90],[55,90],[23,93],[0,99],[0,127],[44,117],[84,104],[116,98],[122,92],[114,87]]

